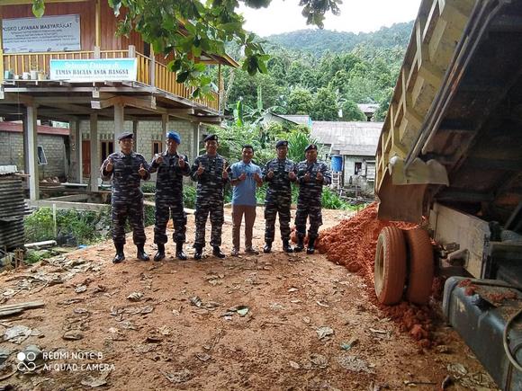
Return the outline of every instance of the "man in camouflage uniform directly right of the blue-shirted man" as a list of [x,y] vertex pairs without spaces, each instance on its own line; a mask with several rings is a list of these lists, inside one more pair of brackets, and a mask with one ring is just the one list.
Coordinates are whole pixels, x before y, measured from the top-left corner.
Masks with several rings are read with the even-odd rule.
[[283,239],[283,251],[293,253],[290,245],[290,205],[292,204],[292,182],[296,176],[294,163],[286,158],[288,141],[280,140],[275,145],[277,157],[269,161],[263,171],[263,180],[268,183],[265,199],[265,253],[272,251],[275,236],[275,218],[279,213],[279,226]]

